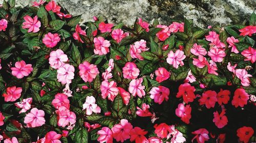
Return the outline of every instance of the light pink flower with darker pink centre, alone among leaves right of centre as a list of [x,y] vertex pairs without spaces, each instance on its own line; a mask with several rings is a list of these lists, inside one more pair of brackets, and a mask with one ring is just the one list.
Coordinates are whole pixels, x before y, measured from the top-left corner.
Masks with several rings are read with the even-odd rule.
[[184,52],[181,50],[176,50],[175,53],[171,50],[168,53],[168,58],[166,59],[167,63],[173,65],[176,69],[178,69],[179,65],[183,66],[184,63],[182,62],[186,58]]

